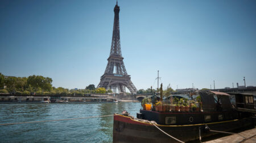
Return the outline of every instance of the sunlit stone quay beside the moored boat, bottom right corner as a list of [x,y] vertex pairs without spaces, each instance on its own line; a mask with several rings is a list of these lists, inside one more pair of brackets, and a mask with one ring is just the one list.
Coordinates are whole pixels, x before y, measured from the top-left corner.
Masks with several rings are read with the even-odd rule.
[[221,138],[217,138],[216,140],[207,141],[207,143],[224,143],[224,142],[246,142],[246,143],[254,143],[256,142],[256,128],[249,129],[239,133],[241,136],[245,137],[245,139],[237,134],[225,136]]

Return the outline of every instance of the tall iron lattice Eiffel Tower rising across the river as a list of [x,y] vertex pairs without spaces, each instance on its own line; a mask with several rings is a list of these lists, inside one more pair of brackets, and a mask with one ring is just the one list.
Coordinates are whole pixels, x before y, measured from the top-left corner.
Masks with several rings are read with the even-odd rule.
[[118,89],[119,93],[125,94],[125,87],[127,87],[131,94],[136,94],[137,89],[131,82],[131,77],[127,74],[125,64],[123,64],[120,47],[119,11],[119,6],[115,5],[114,28],[108,65],[106,66],[104,75],[101,76],[101,81],[97,88]]

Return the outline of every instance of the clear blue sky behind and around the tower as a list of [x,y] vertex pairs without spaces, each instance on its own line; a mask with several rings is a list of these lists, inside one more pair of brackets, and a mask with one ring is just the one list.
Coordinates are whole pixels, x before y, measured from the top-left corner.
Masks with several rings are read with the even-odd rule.
[[[118,1],[121,49],[137,89],[256,86],[256,1]],[[115,1],[0,1],[0,72],[96,86]]]

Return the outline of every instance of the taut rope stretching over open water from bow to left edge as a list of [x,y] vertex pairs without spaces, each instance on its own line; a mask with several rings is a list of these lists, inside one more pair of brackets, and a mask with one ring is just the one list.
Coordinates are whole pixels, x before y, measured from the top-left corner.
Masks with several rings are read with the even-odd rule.
[[42,122],[54,122],[54,121],[61,121],[61,120],[78,120],[78,119],[88,119],[88,118],[100,118],[100,117],[105,117],[105,116],[114,116],[114,114],[113,115],[102,115],[102,116],[88,116],[88,117],[82,117],[82,118],[69,118],[69,119],[56,119],[56,120],[40,120],[40,121],[34,121],[34,122],[4,123],[4,124],[0,124],[0,125],[42,123]]

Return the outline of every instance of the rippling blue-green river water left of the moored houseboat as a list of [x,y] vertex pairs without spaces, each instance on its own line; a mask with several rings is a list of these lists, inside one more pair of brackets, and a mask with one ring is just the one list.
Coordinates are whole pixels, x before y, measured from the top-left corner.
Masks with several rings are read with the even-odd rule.
[[[0,124],[112,115],[131,115],[141,103],[0,104]],[[113,116],[57,122],[0,125],[0,142],[112,142]]]

